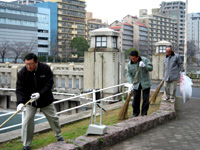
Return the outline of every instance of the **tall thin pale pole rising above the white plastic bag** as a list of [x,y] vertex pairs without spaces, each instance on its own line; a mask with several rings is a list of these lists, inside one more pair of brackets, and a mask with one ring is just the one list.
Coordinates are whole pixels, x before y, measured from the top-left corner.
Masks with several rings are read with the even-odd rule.
[[185,10],[185,43],[184,43],[184,68],[185,73],[187,72],[187,22],[188,22],[188,0],[186,0],[186,10]]

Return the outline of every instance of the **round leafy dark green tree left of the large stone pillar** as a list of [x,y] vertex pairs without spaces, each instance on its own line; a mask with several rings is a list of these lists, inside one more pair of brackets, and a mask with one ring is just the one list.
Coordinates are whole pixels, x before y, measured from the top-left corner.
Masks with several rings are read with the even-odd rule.
[[70,43],[71,49],[74,49],[74,54],[78,55],[78,60],[80,57],[84,57],[84,52],[88,51],[90,47],[87,40],[83,37],[75,37]]

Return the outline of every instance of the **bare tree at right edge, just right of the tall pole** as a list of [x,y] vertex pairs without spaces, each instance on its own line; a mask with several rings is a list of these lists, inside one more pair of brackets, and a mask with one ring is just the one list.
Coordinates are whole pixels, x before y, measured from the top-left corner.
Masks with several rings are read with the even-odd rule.
[[198,53],[198,48],[194,40],[187,41],[187,62],[188,64],[197,63],[196,54]]

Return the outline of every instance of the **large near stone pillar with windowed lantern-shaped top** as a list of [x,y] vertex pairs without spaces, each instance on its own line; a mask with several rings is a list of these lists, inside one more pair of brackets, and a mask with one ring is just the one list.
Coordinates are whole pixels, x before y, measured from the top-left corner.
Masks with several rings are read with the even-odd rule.
[[[119,33],[100,28],[91,31],[90,37],[90,48],[84,54],[84,89],[103,89],[124,83],[125,57],[118,48]],[[119,90],[112,88],[103,94],[115,94]]]

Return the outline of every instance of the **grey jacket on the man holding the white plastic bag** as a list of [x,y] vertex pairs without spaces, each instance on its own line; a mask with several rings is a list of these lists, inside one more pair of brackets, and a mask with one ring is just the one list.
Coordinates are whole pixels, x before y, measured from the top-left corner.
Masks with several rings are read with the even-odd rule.
[[177,81],[180,79],[180,71],[184,72],[183,62],[178,54],[172,53],[164,59],[165,81]]

